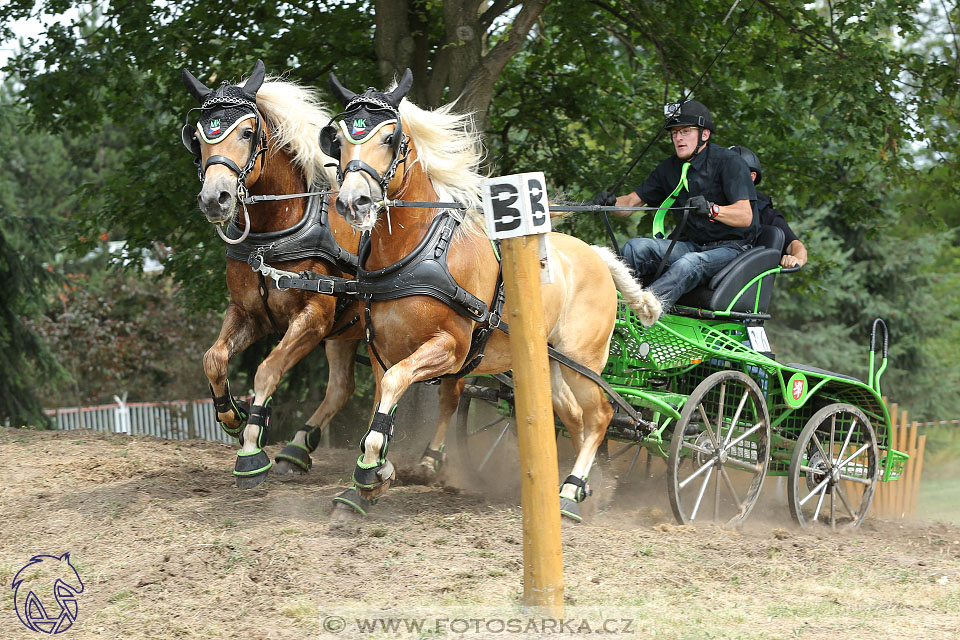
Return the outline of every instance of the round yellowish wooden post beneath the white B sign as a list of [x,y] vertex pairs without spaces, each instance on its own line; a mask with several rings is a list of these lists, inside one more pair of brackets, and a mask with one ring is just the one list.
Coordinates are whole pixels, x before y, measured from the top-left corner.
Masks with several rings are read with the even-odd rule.
[[509,307],[510,355],[516,381],[523,506],[523,603],[563,617],[563,554],[557,444],[550,366],[540,298],[536,236],[502,241],[503,283]]

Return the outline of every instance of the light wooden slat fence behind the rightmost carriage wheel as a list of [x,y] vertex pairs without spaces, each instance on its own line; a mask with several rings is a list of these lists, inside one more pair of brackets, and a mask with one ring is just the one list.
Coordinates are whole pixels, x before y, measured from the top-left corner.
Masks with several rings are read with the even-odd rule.
[[[884,402],[887,402],[886,398]],[[917,513],[927,436],[917,434],[918,423],[911,423],[907,412],[901,410],[896,402],[887,403],[887,408],[890,411],[890,446],[906,453],[910,459],[899,480],[877,485],[877,493],[873,497],[873,515],[886,520],[905,520]]]

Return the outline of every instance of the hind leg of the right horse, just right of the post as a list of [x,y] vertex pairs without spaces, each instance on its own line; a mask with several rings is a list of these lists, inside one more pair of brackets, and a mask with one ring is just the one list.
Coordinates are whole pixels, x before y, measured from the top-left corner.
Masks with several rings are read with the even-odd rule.
[[551,385],[554,411],[570,431],[577,455],[570,475],[560,487],[560,513],[579,522],[583,519],[579,503],[588,495],[587,477],[613,409],[595,382],[555,362],[551,363]]

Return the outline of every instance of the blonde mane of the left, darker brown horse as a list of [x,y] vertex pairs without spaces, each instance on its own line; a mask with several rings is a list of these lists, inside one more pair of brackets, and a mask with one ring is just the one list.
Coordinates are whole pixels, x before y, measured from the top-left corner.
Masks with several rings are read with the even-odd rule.
[[270,123],[271,146],[291,152],[308,187],[336,188],[336,168],[324,166],[335,160],[320,151],[317,142],[320,129],[330,120],[330,113],[316,90],[268,77],[257,91],[257,107]]

